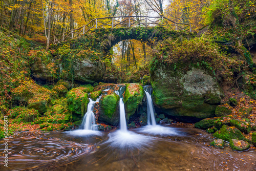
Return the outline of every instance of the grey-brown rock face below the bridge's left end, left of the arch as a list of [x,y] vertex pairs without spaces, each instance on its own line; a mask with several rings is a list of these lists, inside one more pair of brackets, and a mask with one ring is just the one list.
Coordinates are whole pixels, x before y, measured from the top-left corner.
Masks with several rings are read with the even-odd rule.
[[86,83],[101,81],[105,70],[106,67],[101,61],[76,60],[74,63],[74,80]]

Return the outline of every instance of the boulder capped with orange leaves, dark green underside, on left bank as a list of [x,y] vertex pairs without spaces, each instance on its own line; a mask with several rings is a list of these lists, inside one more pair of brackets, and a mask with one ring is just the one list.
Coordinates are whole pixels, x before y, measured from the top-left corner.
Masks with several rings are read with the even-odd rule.
[[39,114],[44,114],[47,111],[47,105],[51,101],[50,95],[48,94],[38,94],[28,101],[28,108],[35,109]]

